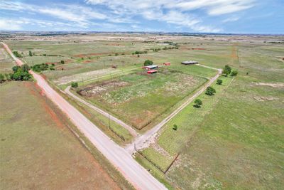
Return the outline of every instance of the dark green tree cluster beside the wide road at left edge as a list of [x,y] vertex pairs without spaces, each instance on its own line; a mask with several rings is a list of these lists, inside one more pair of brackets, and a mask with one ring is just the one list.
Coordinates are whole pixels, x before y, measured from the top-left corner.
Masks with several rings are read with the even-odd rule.
[[6,80],[31,80],[32,75],[28,73],[28,70],[30,69],[31,68],[27,64],[21,65],[21,67],[18,65],[13,66],[13,73],[0,73],[0,83],[3,83]]

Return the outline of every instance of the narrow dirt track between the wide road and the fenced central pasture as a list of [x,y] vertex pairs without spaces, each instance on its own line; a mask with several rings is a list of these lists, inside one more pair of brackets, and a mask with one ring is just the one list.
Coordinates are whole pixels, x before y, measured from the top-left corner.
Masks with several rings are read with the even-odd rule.
[[129,133],[133,136],[133,137],[137,137],[138,133],[136,132],[136,130],[133,130],[133,128],[129,125],[127,125],[125,122],[117,119],[116,117],[110,115],[108,112],[105,112],[104,110],[99,109],[99,107],[95,107],[94,105],[90,104],[89,102],[86,102],[85,100],[83,100],[82,98],[78,97],[77,95],[73,94],[70,92],[70,86],[68,86],[65,90],[65,93],[67,93],[67,95],[70,95],[71,97],[73,97],[75,100],[78,100],[79,102],[82,102],[84,105],[87,105],[88,107],[91,107],[93,110],[99,112],[100,114],[104,115],[105,117],[109,117],[110,120],[113,120],[114,122],[116,122],[117,124],[121,125],[122,127],[124,127],[126,130],[129,131]]

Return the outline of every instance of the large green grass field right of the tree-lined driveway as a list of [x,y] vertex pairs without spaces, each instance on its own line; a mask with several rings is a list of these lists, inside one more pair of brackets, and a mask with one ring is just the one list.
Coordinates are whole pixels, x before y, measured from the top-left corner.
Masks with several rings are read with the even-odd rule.
[[[284,49],[263,43],[232,44],[234,48],[238,56],[229,64],[239,75],[229,88],[230,79],[223,77],[224,85],[214,85],[216,95],[201,95],[202,107],[186,107],[158,138],[171,155],[181,152],[168,173],[137,157],[175,189],[282,189],[284,67],[279,57]],[[147,153],[156,157],[156,164],[164,164],[161,154]]]

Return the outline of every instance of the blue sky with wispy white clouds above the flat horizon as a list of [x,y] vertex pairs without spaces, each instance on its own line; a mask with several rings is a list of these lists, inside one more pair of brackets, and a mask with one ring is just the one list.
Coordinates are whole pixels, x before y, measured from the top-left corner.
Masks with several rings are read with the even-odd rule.
[[0,0],[0,31],[284,33],[284,0]]

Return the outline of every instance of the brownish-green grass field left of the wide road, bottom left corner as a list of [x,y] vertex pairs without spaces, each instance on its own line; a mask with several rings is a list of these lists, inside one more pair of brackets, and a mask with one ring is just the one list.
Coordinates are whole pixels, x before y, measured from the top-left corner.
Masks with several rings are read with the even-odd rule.
[[34,83],[0,88],[1,189],[132,188],[97,149],[93,157],[80,144],[68,129],[76,127]]

